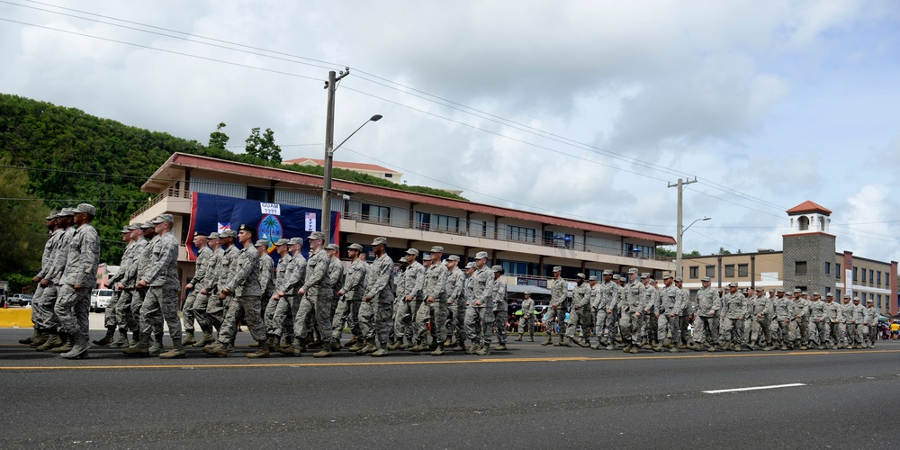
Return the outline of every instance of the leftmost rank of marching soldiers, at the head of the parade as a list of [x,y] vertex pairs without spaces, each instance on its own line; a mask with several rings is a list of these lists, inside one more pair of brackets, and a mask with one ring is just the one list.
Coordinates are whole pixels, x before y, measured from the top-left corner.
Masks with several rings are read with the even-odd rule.
[[100,261],[100,238],[91,225],[96,214],[93,205],[81,203],[45,218],[49,238],[32,278],[38,284],[31,301],[34,329],[20,344],[68,359],[87,356],[90,296]]

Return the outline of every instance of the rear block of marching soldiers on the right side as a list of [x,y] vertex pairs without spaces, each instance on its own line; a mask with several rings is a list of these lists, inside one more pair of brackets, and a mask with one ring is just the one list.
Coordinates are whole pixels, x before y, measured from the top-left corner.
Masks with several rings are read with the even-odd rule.
[[[851,296],[844,295],[843,303],[839,303],[832,293],[823,300],[819,293],[809,298],[800,290],[786,297],[781,288],[767,296],[761,287],[738,292],[736,283],[729,284],[720,295],[711,287],[711,280],[703,278],[702,288],[692,301],[680,278],[665,275],[664,286],[658,288],[649,274],[641,274],[639,279],[636,268],[629,269],[627,276],[606,270],[600,284],[594,276],[585,283],[583,274],[576,275],[572,310],[566,321],[568,283],[561,273],[561,267],[554,267],[554,280],[549,285],[551,302],[544,316],[545,346],[622,347],[626,353],[638,353],[640,349],[661,352],[665,348],[679,352],[706,347],[713,352],[875,346],[879,314],[871,300],[862,306],[854,297],[851,304]],[[533,318],[534,302],[527,296],[517,340],[525,330],[533,329]],[[554,322],[560,327],[556,344]],[[689,323],[693,323],[690,334]],[[598,339],[593,345],[591,331]]]

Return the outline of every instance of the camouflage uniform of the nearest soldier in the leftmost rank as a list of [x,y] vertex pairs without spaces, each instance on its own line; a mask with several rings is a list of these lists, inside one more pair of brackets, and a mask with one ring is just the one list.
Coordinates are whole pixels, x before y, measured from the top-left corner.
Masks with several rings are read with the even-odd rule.
[[[59,326],[70,336],[87,342],[91,290],[97,284],[100,237],[90,223],[79,226],[67,248],[66,268],[59,287],[56,315]],[[80,289],[75,286],[80,285]]]

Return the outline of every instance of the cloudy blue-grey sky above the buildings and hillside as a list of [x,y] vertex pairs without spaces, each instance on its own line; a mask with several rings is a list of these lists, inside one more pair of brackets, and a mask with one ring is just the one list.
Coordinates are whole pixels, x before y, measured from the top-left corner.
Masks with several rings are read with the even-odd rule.
[[0,92],[242,151],[271,128],[476,201],[780,248],[785,211],[834,211],[837,250],[900,259],[900,3],[0,2]]

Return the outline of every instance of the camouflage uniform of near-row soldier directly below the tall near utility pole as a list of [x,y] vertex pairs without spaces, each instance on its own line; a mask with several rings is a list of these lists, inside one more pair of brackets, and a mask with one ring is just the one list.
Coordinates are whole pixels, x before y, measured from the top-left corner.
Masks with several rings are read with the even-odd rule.
[[331,286],[328,277],[330,259],[324,247],[310,255],[306,262],[306,280],[301,287],[306,293],[293,321],[296,337],[306,338],[309,334],[306,319],[314,311],[313,327],[319,331],[323,348],[331,345]]

